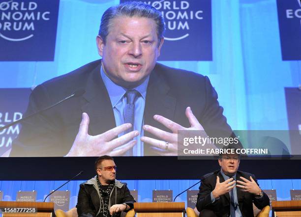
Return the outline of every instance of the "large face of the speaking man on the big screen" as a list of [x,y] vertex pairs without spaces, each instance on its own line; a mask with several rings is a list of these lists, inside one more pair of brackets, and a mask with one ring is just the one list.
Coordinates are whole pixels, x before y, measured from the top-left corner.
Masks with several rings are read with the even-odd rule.
[[126,88],[145,81],[155,66],[158,47],[156,24],[150,18],[117,17],[111,20],[106,43],[97,36],[98,54],[108,77]]

